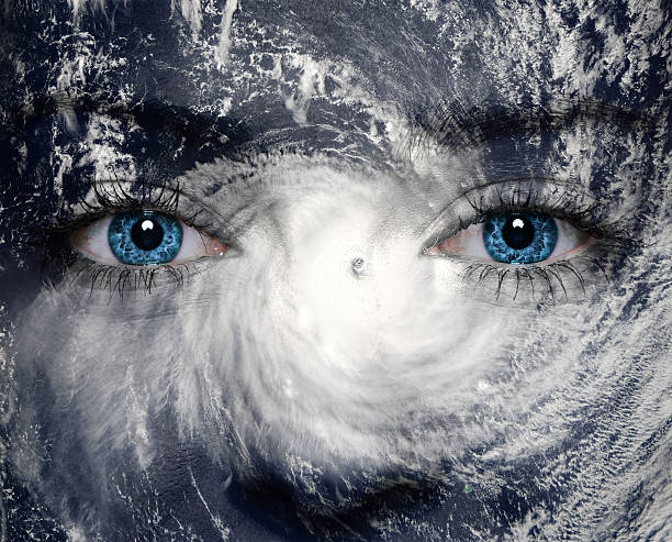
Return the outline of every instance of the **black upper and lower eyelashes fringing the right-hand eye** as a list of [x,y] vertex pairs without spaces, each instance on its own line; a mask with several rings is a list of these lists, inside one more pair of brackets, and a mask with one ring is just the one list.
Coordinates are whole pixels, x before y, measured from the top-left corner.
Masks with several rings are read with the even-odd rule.
[[[605,223],[597,219],[596,214],[601,211],[601,207],[597,203],[578,203],[578,198],[573,197],[576,192],[572,193],[571,190],[559,189],[551,193],[544,195],[541,189],[535,190],[534,182],[530,182],[528,179],[514,180],[514,182],[516,184],[513,189],[511,182],[506,184],[505,181],[486,185],[485,188],[495,189],[495,197],[490,200],[483,195],[484,187],[479,187],[466,192],[462,197],[471,209],[470,219],[464,220],[461,215],[458,215],[459,229],[451,231],[449,234],[441,235],[440,239],[447,239],[472,224],[484,222],[493,212],[536,211],[550,214],[560,220],[567,220],[576,229],[590,233],[597,240],[603,250],[608,250],[613,255],[623,256],[629,259],[631,252],[637,248],[635,241],[628,236],[618,224]],[[528,190],[524,191],[523,186],[526,182],[530,186]],[[508,196],[505,193],[507,189],[511,190]],[[471,192],[477,192],[477,190],[479,190],[480,197],[478,197],[478,195],[471,197]],[[601,223],[601,225],[596,225],[597,223]],[[434,243],[427,246],[427,248],[433,245]],[[563,294],[564,300],[569,300],[563,277],[573,277],[576,279],[583,295],[586,294],[586,280],[581,269],[578,268],[580,263],[584,264],[586,268],[592,266],[598,269],[605,277],[605,280],[611,283],[606,267],[603,262],[601,262],[601,258],[589,255],[576,255],[571,258],[555,261],[546,265],[533,264],[515,268],[503,267],[491,262],[475,262],[467,266],[462,273],[462,280],[467,281],[478,274],[474,284],[474,288],[477,288],[489,277],[494,276],[496,280],[494,298],[496,301],[500,300],[505,280],[509,276],[515,279],[512,301],[517,299],[523,281],[529,281],[533,299],[535,297],[537,281],[541,281],[550,295],[550,305],[556,305],[558,301],[556,294],[558,291]],[[555,287],[555,283],[557,287]]]

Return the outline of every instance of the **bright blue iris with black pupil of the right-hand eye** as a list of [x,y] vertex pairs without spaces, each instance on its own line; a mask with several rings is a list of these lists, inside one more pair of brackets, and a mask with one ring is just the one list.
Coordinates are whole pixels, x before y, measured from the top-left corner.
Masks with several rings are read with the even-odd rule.
[[558,226],[538,212],[500,212],[483,223],[483,243],[490,257],[506,264],[534,264],[553,252]]

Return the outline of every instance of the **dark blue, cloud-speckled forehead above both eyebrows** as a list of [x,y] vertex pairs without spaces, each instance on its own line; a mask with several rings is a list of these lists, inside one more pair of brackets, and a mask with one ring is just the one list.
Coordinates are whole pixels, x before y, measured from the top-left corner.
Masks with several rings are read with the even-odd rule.
[[[251,117],[262,100],[299,122],[436,100],[634,106],[660,98],[667,80],[669,22],[654,3],[9,2],[4,68],[34,91]],[[322,118],[306,119],[315,97]]]

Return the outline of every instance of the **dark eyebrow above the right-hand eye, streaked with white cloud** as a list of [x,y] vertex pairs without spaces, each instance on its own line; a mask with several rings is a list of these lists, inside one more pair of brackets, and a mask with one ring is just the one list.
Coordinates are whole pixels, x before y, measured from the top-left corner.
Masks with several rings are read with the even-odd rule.
[[411,114],[407,150],[413,152],[434,143],[459,151],[520,133],[557,132],[585,120],[632,125],[647,117],[594,100],[556,100],[550,107],[485,102],[470,109],[459,101],[440,102]]

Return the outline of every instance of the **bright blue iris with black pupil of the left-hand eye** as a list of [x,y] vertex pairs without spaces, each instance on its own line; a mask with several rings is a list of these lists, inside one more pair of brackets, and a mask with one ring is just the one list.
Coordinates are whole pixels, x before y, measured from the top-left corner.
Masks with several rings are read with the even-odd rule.
[[175,259],[182,244],[179,220],[155,211],[115,214],[108,232],[110,248],[128,265],[161,265]]

